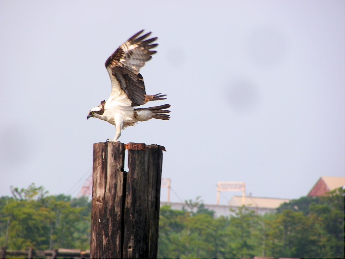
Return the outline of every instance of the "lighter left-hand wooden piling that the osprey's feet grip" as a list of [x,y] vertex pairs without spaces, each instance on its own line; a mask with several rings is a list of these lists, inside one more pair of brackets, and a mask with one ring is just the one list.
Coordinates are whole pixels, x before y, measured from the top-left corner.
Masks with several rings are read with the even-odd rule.
[[121,258],[122,188],[125,146],[93,146],[91,258]]

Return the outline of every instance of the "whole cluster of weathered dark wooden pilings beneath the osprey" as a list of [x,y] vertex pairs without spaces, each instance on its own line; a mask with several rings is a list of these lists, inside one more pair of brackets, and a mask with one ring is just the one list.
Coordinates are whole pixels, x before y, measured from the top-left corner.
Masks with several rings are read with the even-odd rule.
[[157,258],[162,150],[144,143],[93,145],[90,258]]

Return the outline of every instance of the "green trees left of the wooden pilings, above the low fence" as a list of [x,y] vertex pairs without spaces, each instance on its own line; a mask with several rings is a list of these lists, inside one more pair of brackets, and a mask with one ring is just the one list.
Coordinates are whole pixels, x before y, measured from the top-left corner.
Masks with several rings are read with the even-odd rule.
[[11,192],[13,197],[0,198],[0,246],[7,243],[10,250],[89,248],[91,204],[87,198],[48,196],[34,184],[21,190],[11,187]]

